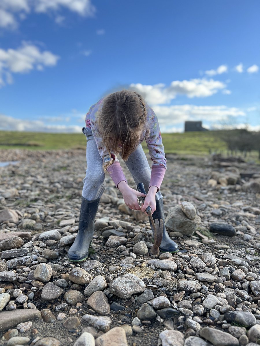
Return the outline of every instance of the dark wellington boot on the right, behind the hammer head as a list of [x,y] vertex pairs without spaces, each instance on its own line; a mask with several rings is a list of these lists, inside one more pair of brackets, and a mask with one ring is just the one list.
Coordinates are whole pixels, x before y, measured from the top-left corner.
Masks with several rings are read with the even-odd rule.
[[[163,210],[163,197],[159,200],[156,200],[156,210],[153,213],[153,219],[163,219],[163,238],[161,245],[159,246],[160,251],[162,252],[178,252],[179,247],[178,245],[169,237],[168,232],[166,231],[165,224],[164,224],[164,210]],[[154,234],[153,226],[151,225],[151,229]]]

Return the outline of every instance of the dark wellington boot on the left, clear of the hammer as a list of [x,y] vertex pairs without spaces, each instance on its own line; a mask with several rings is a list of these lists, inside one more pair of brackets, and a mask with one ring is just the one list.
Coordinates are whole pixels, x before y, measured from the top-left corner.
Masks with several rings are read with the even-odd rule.
[[88,257],[94,234],[94,219],[100,198],[88,201],[82,197],[79,214],[79,230],[74,243],[68,251],[68,259],[73,262],[84,261]]

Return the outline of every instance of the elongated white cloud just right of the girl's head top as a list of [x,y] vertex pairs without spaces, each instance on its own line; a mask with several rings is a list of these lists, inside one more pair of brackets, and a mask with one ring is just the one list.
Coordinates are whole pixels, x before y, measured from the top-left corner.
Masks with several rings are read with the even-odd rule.
[[170,86],[165,84],[143,85],[140,83],[130,84],[130,88],[139,92],[148,104],[170,103],[177,95],[193,97],[208,97],[224,89],[226,85],[213,79],[191,79],[189,81],[173,81]]

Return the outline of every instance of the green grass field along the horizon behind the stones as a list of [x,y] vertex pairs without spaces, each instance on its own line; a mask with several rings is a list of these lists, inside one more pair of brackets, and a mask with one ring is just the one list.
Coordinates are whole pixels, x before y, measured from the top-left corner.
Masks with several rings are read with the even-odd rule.
[[[227,154],[226,143],[221,139],[221,131],[186,132],[162,134],[165,153],[179,155]],[[85,149],[83,134],[53,134],[36,132],[0,131],[0,149]],[[143,143],[147,152],[146,143]],[[258,153],[251,152],[248,159],[258,160]]]

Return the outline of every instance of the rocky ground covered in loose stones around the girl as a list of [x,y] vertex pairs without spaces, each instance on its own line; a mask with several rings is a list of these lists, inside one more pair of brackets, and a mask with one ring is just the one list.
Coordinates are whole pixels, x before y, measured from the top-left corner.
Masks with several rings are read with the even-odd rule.
[[0,345],[260,344],[259,165],[168,155],[161,191],[180,252],[157,256],[148,217],[107,176],[76,264],[84,151],[0,151],[16,160],[0,167]]

